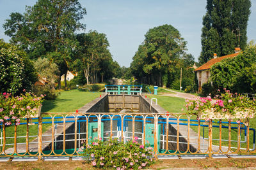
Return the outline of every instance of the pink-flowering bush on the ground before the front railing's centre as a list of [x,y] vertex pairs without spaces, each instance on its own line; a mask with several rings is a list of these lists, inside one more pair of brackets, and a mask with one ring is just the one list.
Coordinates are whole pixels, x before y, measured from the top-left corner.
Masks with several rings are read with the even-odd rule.
[[101,141],[92,140],[90,145],[79,148],[79,153],[87,161],[92,160],[92,165],[98,168],[115,169],[142,169],[154,163],[153,148],[149,145],[138,143],[138,137],[127,143],[119,142],[118,139]]

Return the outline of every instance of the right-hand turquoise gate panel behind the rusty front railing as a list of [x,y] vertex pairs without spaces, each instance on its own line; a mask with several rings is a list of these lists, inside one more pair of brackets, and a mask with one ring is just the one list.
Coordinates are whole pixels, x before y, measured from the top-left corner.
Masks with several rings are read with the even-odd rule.
[[[154,148],[154,129],[155,129],[155,124],[146,124],[145,127],[145,136],[146,136],[146,141]],[[160,135],[161,135],[161,125],[158,125],[157,127],[157,150],[158,152],[160,151]]]

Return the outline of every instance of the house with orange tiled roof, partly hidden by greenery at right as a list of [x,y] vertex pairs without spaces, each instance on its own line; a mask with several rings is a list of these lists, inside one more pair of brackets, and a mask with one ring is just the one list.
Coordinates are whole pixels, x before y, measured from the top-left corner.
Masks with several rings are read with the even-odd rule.
[[223,60],[223,59],[236,57],[237,55],[239,55],[239,53],[241,53],[240,48],[235,48],[235,53],[232,53],[230,55],[225,55],[225,56],[222,56],[222,57],[217,57],[217,54],[214,53],[213,59],[209,60],[208,62],[206,62],[202,66],[195,69],[196,78],[198,80],[198,92],[202,91],[202,85],[204,83],[207,83],[207,81],[209,80],[209,77],[211,75],[210,69],[214,64],[216,64],[217,62],[221,62],[221,60]]

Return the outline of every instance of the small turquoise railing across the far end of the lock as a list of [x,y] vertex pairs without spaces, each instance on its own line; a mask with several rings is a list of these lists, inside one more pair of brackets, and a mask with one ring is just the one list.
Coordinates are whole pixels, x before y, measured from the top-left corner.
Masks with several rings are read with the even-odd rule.
[[105,93],[139,95],[142,93],[142,85],[105,85]]

